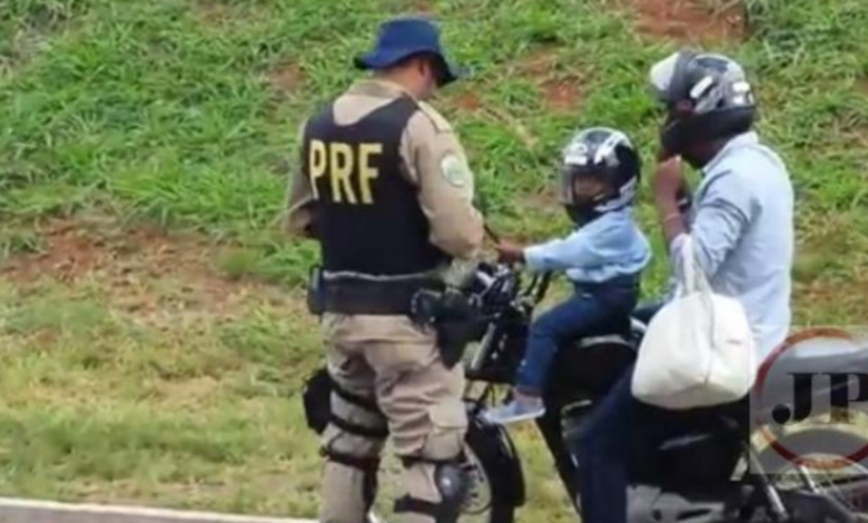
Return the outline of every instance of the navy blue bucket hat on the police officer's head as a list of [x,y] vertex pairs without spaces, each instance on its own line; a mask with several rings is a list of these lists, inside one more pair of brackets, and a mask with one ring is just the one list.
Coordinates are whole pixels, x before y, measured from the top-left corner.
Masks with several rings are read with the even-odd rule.
[[358,69],[378,70],[424,52],[436,56],[442,62],[443,70],[437,79],[441,87],[464,76],[443,49],[440,29],[430,20],[415,17],[396,18],[379,26],[374,49],[356,57],[354,63]]

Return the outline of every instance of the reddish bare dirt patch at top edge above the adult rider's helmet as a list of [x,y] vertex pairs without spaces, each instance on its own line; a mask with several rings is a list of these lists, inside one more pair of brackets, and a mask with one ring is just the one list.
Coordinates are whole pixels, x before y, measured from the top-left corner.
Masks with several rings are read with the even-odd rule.
[[747,37],[744,9],[740,1],[721,0],[624,0],[635,12],[635,27],[654,38],[701,43],[742,40]]

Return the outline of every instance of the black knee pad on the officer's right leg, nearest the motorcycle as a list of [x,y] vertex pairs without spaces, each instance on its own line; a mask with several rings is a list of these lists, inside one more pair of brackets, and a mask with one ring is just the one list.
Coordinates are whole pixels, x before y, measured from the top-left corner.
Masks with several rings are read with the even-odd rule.
[[[424,463],[421,460],[405,461],[404,466],[413,466],[420,462]],[[431,516],[436,523],[455,523],[472,486],[464,460],[435,463],[434,485],[440,493],[438,503],[406,495],[395,502],[395,513],[414,512]]]

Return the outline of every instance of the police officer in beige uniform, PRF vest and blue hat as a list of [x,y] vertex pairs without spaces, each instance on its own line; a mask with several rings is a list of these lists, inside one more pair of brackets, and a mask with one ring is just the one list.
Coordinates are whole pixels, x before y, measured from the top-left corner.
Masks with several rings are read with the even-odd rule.
[[[287,227],[322,247],[322,328],[333,378],[320,521],[361,523],[388,434],[404,464],[395,512],[407,522],[457,517],[468,478],[461,365],[436,332],[411,319],[421,289],[455,284],[450,267],[483,241],[473,175],[452,126],[423,100],[460,76],[440,31],[421,18],[379,28],[355,59],[357,81],[303,127]],[[452,363],[452,362],[451,362]]]

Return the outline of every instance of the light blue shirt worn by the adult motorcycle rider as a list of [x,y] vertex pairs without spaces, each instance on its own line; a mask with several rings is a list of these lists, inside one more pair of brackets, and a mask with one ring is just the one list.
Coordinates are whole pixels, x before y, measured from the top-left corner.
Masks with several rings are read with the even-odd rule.
[[[741,302],[765,358],[787,337],[791,320],[795,225],[787,167],[756,132],[740,135],[706,166],[693,201],[689,234],[697,260],[716,293]],[[685,236],[672,241],[672,259],[681,259]]]

